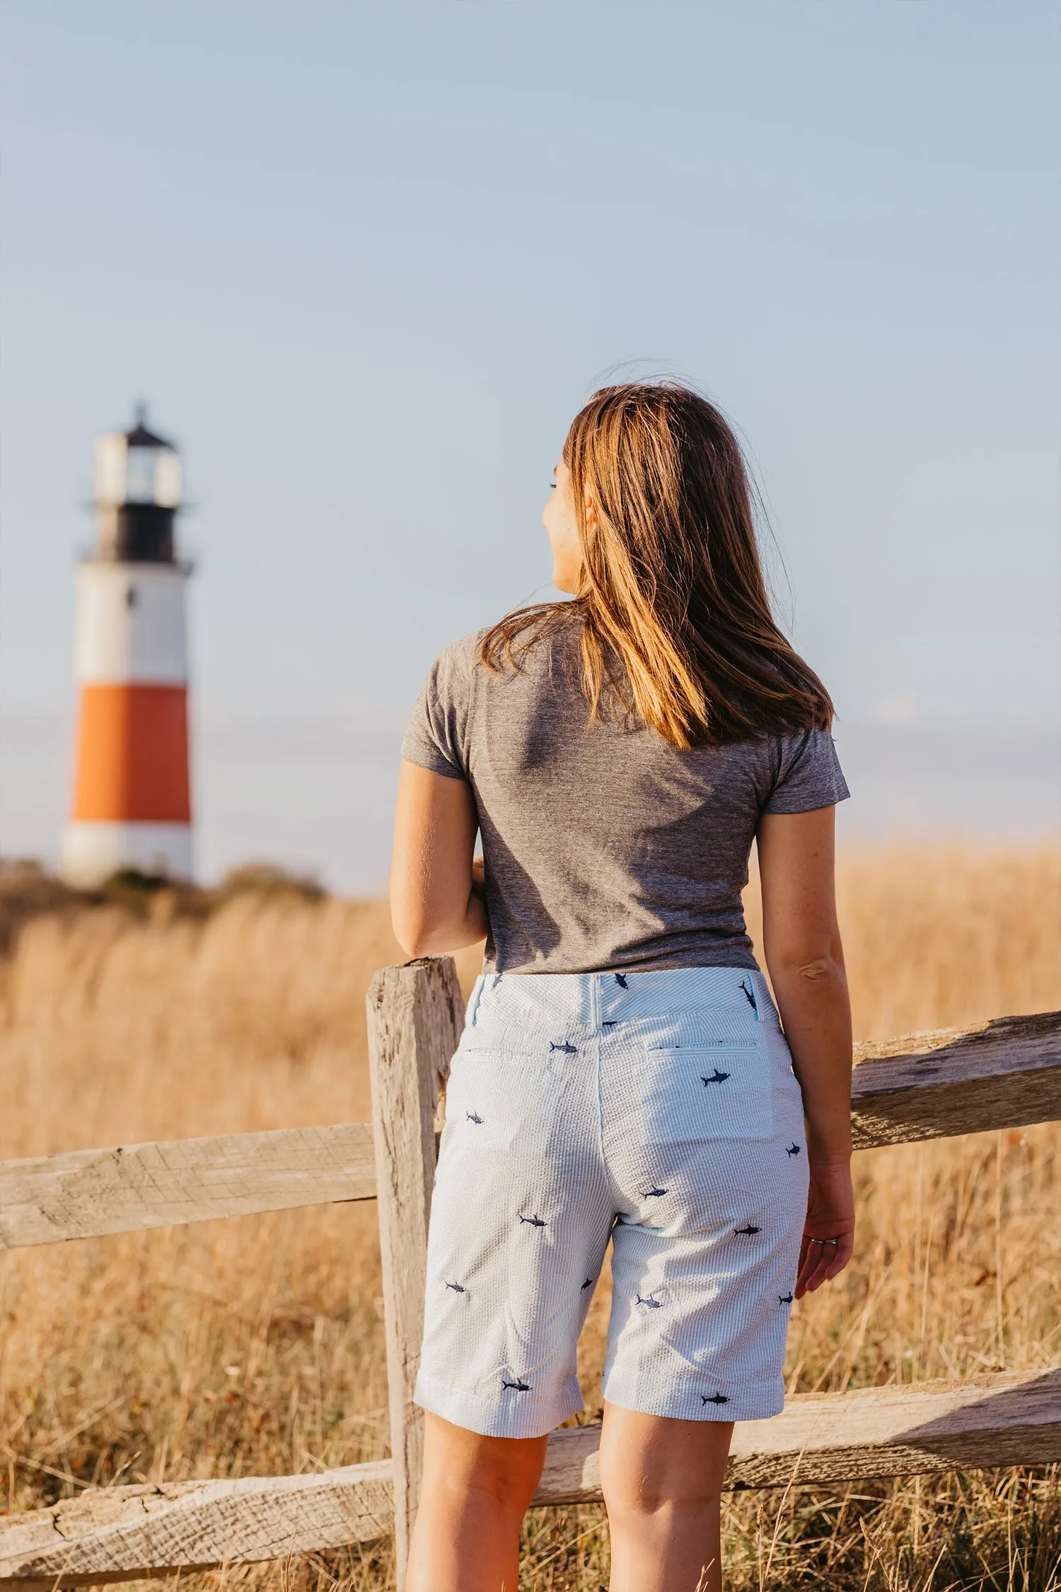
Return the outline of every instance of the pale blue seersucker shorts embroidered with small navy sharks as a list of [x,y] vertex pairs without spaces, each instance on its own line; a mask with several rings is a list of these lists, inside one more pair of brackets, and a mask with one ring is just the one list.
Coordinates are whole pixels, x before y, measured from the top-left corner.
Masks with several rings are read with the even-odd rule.
[[415,1399],[499,1438],[582,1409],[576,1345],[611,1240],[604,1398],[776,1415],[805,1216],[802,1097],[760,973],[479,979],[447,1087]]

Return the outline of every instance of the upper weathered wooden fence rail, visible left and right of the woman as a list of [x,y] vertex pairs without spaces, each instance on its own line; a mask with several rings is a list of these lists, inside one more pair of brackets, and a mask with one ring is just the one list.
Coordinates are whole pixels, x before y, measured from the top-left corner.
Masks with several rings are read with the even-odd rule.
[[[402,971],[402,970],[394,970]],[[1061,1014],[857,1046],[857,1149],[1061,1118]],[[0,1250],[375,1199],[371,1122],[0,1161]]]

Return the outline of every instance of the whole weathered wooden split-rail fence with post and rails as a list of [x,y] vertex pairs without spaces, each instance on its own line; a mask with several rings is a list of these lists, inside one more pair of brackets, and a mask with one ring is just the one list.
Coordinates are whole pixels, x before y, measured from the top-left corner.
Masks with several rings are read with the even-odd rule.
[[[45,1592],[367,1543],[393,1530],[404,1582],[422,1417],[436,1110],[463,1024],[449,957],[377,973],[372,1122],[226,1134],[0,1162],[0,1248],[375,1199],[391,1458],[309,1476],[103,1487],[0,1520],[0,1592]],[[864,1044],[856,1148],[1061,1118],[1061,1013]],[[600,1425],[555,1431],[534,1504],[600,1501]],[[797,1395],[735,1428],[727,1487],[1061,1460],[1061,1369]]]

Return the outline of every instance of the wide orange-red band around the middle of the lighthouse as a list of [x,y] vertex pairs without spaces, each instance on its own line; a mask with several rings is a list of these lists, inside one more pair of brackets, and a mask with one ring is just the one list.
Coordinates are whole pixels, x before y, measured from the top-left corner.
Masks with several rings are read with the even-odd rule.
[[81,688],[76,823],[191,823],[188,689]]

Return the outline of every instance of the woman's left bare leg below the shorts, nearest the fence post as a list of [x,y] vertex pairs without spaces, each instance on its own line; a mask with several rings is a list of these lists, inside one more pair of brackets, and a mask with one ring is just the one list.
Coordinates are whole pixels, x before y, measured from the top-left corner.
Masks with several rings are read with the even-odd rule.
[[425,1415],[423,1487],[407,1592],[515,1592],[520,1524],[549,1438],[480,1438]]

